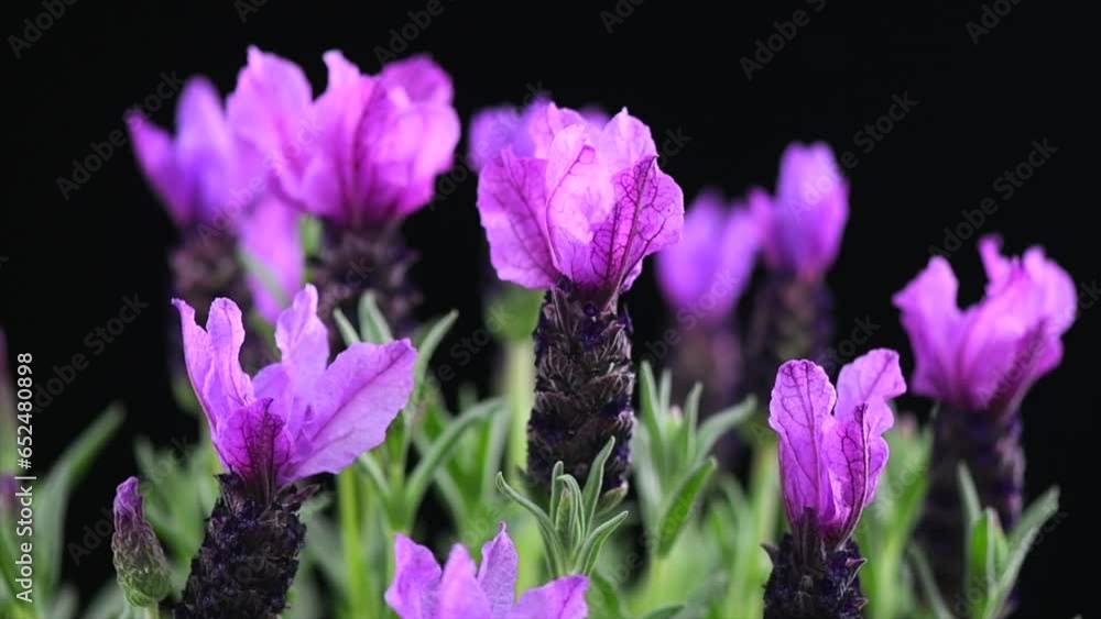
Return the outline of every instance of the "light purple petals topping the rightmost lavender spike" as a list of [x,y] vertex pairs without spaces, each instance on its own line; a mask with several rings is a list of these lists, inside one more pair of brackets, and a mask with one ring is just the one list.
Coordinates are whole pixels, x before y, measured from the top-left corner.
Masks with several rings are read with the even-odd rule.
[[914,347],[914,391],[963,410],[1015,407],[1062,358],[1075,284],[1040,247],[1006,258],[1001,240],[984,236],[979,253],[989,283],[978,303],[959,308],[956,275],[940,256],[894,296]]

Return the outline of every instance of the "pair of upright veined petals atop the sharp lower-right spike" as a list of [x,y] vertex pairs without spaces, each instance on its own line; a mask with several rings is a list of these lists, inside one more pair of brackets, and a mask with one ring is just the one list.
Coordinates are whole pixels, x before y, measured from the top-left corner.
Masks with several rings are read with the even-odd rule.
[[836,546],[849,539],[887,461],[883,432],[894,424],[887,399],[905,390],[898,353],[886,349],[842,367],[836,391],[814,362],[780,367],[768,425],[780,435],[784,508],[793,529],[814,528]]

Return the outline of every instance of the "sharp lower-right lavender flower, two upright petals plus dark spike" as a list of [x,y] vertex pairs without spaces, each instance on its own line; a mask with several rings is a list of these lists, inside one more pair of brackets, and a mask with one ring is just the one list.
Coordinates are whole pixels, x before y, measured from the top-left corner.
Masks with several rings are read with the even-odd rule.
[[898,353],[877,349],[841,368],[837,390],[813,362],[776,374],[768,425],[780,435],[784,509],[792,526],[768,549],[765,617],[860,617],[864,560],[851,540],[887,461],[887,399],[906,384]]

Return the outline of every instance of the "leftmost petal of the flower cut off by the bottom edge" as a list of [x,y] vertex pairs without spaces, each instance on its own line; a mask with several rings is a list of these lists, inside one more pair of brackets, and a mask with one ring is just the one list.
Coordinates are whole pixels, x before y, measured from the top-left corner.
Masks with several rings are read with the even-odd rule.
[[435,619],[443,571],[432,551],[397,533],[386,604],[401,619]]

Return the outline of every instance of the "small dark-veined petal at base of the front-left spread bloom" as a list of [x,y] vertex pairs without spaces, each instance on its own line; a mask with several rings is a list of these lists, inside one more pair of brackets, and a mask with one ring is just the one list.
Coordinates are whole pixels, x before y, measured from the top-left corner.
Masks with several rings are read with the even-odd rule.
[[292,480],[283,474],[291,460],[292,440],[286,420],[272,412],[271,404],[264,398],[242,406],[211,438],[227,469],[247,479],[274,479],[281,486]]

